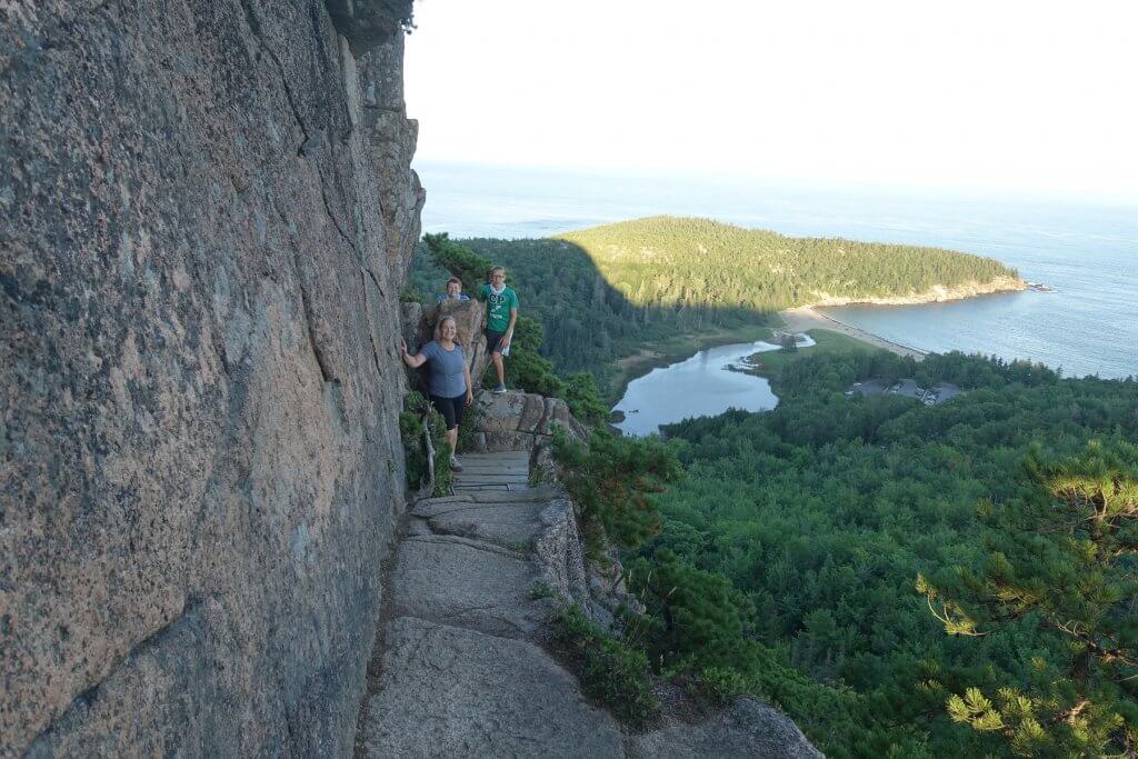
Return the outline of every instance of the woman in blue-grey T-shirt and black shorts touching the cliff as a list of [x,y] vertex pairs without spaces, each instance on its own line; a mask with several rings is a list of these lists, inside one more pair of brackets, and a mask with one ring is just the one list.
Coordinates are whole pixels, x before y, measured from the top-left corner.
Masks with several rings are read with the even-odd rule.
[[431,403],[446,420],[446,442],[451,444],[451,469],[462,471],[454,452],[459,447],[459,424],[462,423],[462,412],[475,402],[473,386],[470,382],[470,366],[467,364],[467,352],[455,343],[459,333],[454,316],[444,316],[435,327],[435,339],[419,349],[419,353],[407,353],[407,341],[399,338],[399,353],[403,363],[412,369],[430,364],[430,381],[427,383]]

